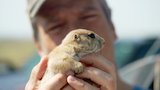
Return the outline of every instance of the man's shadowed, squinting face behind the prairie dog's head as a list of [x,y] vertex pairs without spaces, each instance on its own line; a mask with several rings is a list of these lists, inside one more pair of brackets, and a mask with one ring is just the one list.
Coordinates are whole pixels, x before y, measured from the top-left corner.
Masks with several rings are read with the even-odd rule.
[[48,0],[38,12],[38,49],[47,54],[73,29],[88,29],[102,36],[105,47],[101,54],[113,61],[116,38],[99,0]]

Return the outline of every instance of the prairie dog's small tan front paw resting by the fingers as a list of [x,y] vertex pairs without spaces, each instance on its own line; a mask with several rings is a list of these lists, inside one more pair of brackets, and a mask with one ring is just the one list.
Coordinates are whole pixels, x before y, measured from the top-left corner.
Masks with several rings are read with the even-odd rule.
[[82,73],[84,71],[84,65],[81,62],[76,62],[74,64],[73,71],[76,74]]

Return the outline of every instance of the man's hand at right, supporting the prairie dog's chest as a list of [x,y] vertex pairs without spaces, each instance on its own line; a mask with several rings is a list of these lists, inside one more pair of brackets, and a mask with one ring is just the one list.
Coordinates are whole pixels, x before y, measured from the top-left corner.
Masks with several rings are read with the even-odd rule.
[[[67,82],[75,90],[117,90],[115,66],[102,56],[91,56],[81,60],[88,65],[82,74],[68,76]],[[90,79],[98,85],[92,85],[82,79]]]

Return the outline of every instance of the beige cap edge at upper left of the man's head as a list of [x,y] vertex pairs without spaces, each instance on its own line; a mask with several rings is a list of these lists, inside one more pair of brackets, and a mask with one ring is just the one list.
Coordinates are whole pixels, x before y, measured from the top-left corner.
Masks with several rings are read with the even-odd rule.
[[28,0],[27,12],[33,18],[46,0]]

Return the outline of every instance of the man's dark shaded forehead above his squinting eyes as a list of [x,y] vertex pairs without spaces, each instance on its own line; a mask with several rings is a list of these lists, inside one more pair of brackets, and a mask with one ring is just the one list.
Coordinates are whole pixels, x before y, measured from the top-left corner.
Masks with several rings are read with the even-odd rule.
[[53,1],[54,0],[48,0],[48,2],[45,2],[38,11],[38,15],[52,16],[53,13],[57,15],[59,12],[68,11],[67,9],[79,13],[97,10],[93,2],[94,0],[59,0],[56,3]]

